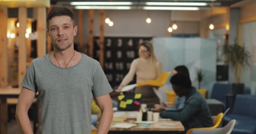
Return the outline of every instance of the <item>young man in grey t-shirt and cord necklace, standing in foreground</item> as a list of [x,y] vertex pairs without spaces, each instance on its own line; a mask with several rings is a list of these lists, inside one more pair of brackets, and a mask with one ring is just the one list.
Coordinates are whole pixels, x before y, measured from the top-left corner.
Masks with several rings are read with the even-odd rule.
[[99,62],[74,50],[77,26],[67,8],[53,8],[47,31],[54,51],[34,59],[27,69],[16,108],[24,134],[32,134],[27,115],[35,94],[40,100],[40,134],[91,134],[91,102],[101,108],[98,134],[112,122],[112,88]]

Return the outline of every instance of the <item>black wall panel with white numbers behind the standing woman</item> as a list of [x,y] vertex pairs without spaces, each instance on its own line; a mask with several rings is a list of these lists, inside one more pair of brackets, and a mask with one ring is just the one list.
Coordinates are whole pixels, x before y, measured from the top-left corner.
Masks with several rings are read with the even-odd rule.
[[[138,45],[151,37],[105,37],[104,72],[112,88],[117,88],[129,72],[133,59],[139,57]],[[99,37],[94,38],[94,59],[99,61]],[[136,77],[130,84],[136,83]]]

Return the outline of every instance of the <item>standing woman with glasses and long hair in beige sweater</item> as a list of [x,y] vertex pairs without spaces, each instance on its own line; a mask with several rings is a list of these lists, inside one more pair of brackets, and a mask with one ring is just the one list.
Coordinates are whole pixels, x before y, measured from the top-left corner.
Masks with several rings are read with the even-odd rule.
[[[139,44],[138,48],[139,58],[134,59],[131,63],[130,70],[117,88],[117,92],[121,92],[121,89],[133,80],[134,74],[136,74],[136,82],[138,83],[156,80],[162,72],[162,64],[155,57],[152,44],[149,41],[144,41]],[[154,107],[155,104],[160,103],[152,86],[136,87],[135,93],[141,93],[142,103],[146,103],[149,107]]]

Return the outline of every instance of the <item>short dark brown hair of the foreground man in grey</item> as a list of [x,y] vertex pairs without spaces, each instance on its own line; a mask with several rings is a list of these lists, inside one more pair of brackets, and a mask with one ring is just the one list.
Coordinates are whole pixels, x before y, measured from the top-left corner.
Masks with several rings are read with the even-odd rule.
[[47,28],[49,26],[49,21],[56,16],[69,16],[71,18],[71,20],[73,21],[73,27],[76,26],[75,24],[75,18],[74,18],[74,14],[72,13],[71,10],[69,10],[68,8],[65,7],[55,7],[52,8],[52,10],[48,13],[46,21],[47,21]]

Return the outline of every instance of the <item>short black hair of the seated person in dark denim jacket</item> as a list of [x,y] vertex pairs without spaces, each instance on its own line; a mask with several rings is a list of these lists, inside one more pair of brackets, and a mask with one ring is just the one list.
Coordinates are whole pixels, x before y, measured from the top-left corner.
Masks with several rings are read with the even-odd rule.
[[192,88],[192,82],[189,77],[183,74],[175,74],[170,79],[171,84],[181,88]]

